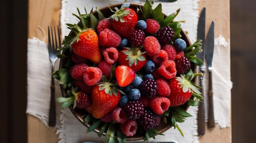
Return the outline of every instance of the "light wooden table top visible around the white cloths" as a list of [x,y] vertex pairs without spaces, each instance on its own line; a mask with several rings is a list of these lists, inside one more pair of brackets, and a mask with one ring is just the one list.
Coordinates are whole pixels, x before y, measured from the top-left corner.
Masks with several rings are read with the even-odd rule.
[[[215,36],[222,34],[228,40],[230,48],[230,7],[229,0],[200,0],[199,11],[207,7],[206,28],[211,20],[215,22]],[[29,0],[29,30],[28,38],[43,38],[43,34],[37,26],[47,31],[48,25],[60,25],[61,0]],[[58,136],[54,130],[47,128],[38,118],[27,115],[28,143],[57,143]],[[214,130],[207,128],[200,143],[231,143],[231,128]]]

